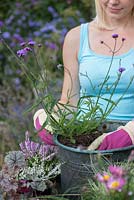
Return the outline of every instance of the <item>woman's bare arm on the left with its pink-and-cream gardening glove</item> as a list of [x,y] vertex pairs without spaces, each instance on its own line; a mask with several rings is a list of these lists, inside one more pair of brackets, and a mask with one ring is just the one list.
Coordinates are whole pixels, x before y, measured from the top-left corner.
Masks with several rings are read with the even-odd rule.
[[[64,81],[61,99],[59,103],[66,104],[68,103],[69,109],[74,106],[77,106],[79,100],[79,69],[78,69],[78,60],[77,55],[79,51],[79,40],[80,40],[80,27],[76,27],[69,31],[65,37],[63,45],[63,63],[64,63]],[[55,105],[54,112],[52,113],[53,117],[58,121],[57,110],[65,109],[62,105]],[[73,108],[74,109],[74,108]],[[42,125],[46,121],[47,114],[44,109],[38,110],[34,115],[34,126],[37,130],[41,129]],[[47,131],[48,130],[48,131]],[[52,135],[51,126],[46,126],[38,132],[39,137],[46,144],[54,144]]]

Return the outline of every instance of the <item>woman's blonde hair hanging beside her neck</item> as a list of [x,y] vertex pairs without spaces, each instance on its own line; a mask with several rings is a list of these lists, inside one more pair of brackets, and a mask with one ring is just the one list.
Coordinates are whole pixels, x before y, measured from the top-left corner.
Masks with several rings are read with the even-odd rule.
[[[102,29],[112,29],[113,27],[109,27],[106,21],[106,15],[103,8],[100,5],[99,0],[95,0],[95,9],[96,9],[96,22],[97,26]],[[134,20],[134,7],[131,12],[131,20]]]

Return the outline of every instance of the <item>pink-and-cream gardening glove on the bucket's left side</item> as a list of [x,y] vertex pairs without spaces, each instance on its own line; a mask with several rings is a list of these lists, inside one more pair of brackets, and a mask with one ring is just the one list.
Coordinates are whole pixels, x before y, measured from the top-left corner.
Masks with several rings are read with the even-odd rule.
[[[46,120],[46,113],[43,109],[38,110],[34,115],[34,126],[37,131],[39,131]],[[49,127],[51,130],[51,127]],[[45,144],[55,145],[53,141],[53,134],[47,129],[43,128],[38,132],[38,136]]]

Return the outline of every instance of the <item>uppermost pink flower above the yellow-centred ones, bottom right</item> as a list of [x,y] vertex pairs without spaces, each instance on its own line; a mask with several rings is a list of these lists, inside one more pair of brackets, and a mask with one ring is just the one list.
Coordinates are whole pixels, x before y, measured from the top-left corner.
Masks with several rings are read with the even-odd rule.
[[126,174],[125,170],[120,166],[110,165],[108,169],[109,169],[110,173],[115,177],[121,177]]

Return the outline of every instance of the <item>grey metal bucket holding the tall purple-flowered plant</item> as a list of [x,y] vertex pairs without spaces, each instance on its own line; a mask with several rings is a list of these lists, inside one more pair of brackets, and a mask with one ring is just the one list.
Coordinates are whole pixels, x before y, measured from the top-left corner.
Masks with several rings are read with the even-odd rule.
[[[80,150],[65,146],[54,135],[54,141],[59,147],[58,157],[61,160],[61,190],[63,193],[81,193],[88,179],[94,176],[100,157],[109,163],[121,162],[128,159],[134,145],[104,151]],[[105,162],[106,163],[106,162]],[[104,163],[104,164],[105,164]]]

